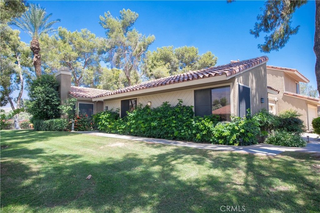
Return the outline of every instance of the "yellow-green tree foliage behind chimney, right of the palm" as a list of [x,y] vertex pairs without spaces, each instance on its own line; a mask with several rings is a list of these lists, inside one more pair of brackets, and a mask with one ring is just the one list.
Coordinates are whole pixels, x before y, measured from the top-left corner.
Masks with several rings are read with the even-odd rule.
[[59,27],[57,34],[46,34],[40,39],[44,70],[54,73],[66,66],[72,72],[75,86],[96,87],[105,43],[105,39],[96,37],[87,29],[71,32]]

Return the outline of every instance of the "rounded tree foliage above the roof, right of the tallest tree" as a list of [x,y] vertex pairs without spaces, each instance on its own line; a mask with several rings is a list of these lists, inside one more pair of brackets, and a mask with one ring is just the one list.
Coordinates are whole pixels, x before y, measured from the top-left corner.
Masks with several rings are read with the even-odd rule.
[[200,70],[212,67],[217,63],[217,57],[207,51],[199,55],[198,48],[183,46],[173,49],[173,46],[157,48],[148,51],[145,67],[148,75],[158,79],[190,70]]

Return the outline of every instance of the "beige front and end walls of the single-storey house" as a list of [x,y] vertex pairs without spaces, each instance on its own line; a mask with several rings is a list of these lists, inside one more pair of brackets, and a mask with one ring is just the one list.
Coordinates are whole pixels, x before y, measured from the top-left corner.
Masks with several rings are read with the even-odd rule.
[[[158,107],[163,102],[168,101],[171,105],[176,105],[178,99],[183,100],[184,105],[194,106],[194,90],[210,88],[210,87],[219,87],[230,85],[231,90],[231,104],[232,104],[232,113],[237,115],[237,103],[238,103],[238,83],[244,84],[251,88],[251,110],[252,113],[260,110],[261,108],[268,109],[268,93],[267,93],[267,81],[266,81],[266,64],[255,67],[251,70],[248,70],[244,73],[241,73],[235,77],[232,77],[228,80],[222,80],[218,82],[206,83],[203,85],[196,85],[195,88],[181,88],[178,91],[170,92],[160,92],[152,95],[135,95],[125,98],[119,98],[116,100],[104,100],[104,106],[108,106],[108,110],[116,110],[121,107],[121,100],[137,98],[138,103],[142,103],[143,106],[148,104],[148,101],[151,102],[151,107]],[[165,86],[164,86],[165,87]],[[161,87],[159,87],[161,88]],[[260,103],[260,98],[265,98],[265,103]],[[104,108],[104,107],[103,107]]]

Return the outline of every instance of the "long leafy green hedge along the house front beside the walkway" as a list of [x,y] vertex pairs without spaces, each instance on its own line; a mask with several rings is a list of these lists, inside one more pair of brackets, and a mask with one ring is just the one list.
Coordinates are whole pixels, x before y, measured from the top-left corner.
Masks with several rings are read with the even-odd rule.
[[219,116],[194,117],[192,106],[176,106],[164,102],[150,109],[139,104],[128,116],[119,117],[119,110],[106,110],[93,116],[96,127],[103,132],[140,137],[162,138],[213,144],[242,145],[257,143],[260,120],[257,115],[246,118],[232,116],[231,122],[219,122]]

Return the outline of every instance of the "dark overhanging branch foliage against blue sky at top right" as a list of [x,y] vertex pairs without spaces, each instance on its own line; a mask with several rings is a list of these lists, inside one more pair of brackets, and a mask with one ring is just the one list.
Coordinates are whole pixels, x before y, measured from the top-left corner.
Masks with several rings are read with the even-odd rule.
[[292,14],[306,3],[307,1],[288,0],[265,2],[265,7],[261,8],[263,14],[257,16],[258,22],[255,23],[254,30],[250,30],[255,38],[261,33],[267,33],[264,37],[265,43],[258,44],[261,52],[279,51],[289,41],[291,35],[298,33],[300,26],[291,26]]

